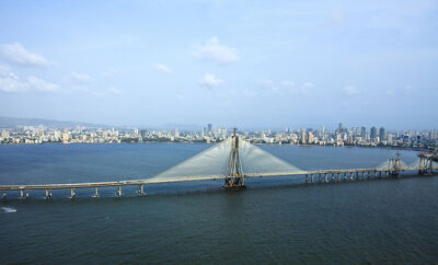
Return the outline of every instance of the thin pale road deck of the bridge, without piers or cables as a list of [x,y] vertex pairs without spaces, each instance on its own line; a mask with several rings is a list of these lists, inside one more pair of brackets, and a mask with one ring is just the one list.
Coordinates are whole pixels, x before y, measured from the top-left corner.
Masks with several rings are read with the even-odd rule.
[[[403,168],[400,171],[420,171],[430,170],[430,168]],[[438,170],[434,168],[433,171]],[[343,174],[343,173],[366,173],[366,172],[390,172],[392,169],[342,169],[342,170],[318,170],[318,171],[295,171],[295,172],[273,172],[265,174],[247,174],[245,177],[265,177],[265,176],[290,176],[290,175],[318,175],[318,174]],[[193,177],[174,177],[174,178],[145,178],[131,181],[115,182],[90,182],[90,183],[69,183],[69,184],[33,184],[33,185],[0,185],[0,191],[23,191],[23,189],[62,189],[62,188],[90,188],[90,187],[112,187],[126,185],[142,185],[157,183],[174,183],[188,181],[206,181],[206,180],[223,180],[223,175],[215,176],[193,176]]]

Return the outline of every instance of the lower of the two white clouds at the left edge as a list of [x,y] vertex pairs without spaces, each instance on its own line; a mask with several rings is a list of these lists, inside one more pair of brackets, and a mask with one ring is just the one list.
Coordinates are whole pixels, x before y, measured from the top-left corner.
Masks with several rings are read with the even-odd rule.
[[57,84],[47,82],[36,77],[28,77],[27,81],[21,81],[8,68],[0,67],[0,91],[3,92],[25,92],[25,91],[39,91],[39,92],[55,92],[58,91]]

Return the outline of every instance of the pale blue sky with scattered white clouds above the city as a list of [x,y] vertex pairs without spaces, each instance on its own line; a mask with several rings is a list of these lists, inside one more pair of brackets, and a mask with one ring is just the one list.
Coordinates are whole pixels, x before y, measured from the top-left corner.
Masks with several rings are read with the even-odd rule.
[[437,1],[9,1],[0,116],[438,128]]

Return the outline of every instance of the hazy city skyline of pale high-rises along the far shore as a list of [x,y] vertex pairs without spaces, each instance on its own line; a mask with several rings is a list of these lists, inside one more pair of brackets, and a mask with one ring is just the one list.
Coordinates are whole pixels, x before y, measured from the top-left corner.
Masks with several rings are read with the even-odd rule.
[[[226,126],[215,127],[208,124],[201,131],[180,131],[177,128],[165,130],[148,129],[90,129],[77,126],[74,129],[49,129],[44,125],[19,126],[15,129],[3,129],[0,143],[122,143],[122,142],[220,142],[230,136],[232,129]],[[284,131],[246,131],[239,130],[251,143],[276,145],[319,145],[319,146],[359,146],[411,148],[415,150],[435,150],[438,138],[436,130],[429,131],[391,131],[384,127],[344,127],[335,130],[292,129]]]

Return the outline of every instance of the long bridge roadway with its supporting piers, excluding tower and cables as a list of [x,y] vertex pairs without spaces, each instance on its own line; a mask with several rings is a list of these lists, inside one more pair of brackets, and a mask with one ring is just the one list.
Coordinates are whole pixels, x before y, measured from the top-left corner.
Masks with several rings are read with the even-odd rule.
[[[430,166],[410,166],[403,169],[341,169],[341,170],[316,170],[316,171],[295,171],[295,172],[272,172],[264,174],[246,174],[247,177],[269,177],[269,176],[303,176],[306,184],[313,183],[334,183],[334,182],[354,182],[376,178],[401,177],[402,172],[415,175],[435,175],[438,174],[438,168]],[[20,198],[24,199],[30,196],[30,191],[45,189],[45,198],[51,198],[53,189],[70,189],[70,198],[74,198],[76,189],[94,188],[94,197],[99,197],[99,188],[116,187],[116,195],[122,196],[123,186],[138,186],[138,194],[146,195],[146,185],[159,183],[176,183],[189,181],[212,181],[226,180],[227,175],[196,176],[196,177],[174,177],[174,178],[143,178],[130,181],[114,182],[90,182],[90,183],[69,183],[69,184],[36,184],[36,185],[0,185],[3,198],[8,192],[19,191]]]

